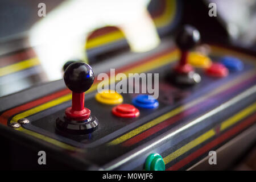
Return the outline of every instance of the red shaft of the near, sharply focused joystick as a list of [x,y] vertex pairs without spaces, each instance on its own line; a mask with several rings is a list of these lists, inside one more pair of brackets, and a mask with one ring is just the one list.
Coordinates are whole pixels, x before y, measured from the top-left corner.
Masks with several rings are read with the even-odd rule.
[[65,114],[69,119],[76,121],[83,121],[90,117],[90,110],[84,107],[84,92],[72,92],[72,107],[68,107]]

